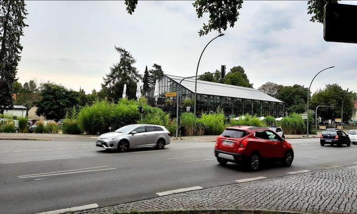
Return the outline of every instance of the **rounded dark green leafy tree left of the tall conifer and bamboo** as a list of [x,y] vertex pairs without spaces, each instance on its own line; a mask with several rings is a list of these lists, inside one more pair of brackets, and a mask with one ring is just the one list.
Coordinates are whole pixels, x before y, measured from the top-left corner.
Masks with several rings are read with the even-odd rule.
[[37,115],[45,115],[47,119],[62,119],[68,109],[77,104],[76,93],[55,83],[42,85],[41,100],[36,103]]

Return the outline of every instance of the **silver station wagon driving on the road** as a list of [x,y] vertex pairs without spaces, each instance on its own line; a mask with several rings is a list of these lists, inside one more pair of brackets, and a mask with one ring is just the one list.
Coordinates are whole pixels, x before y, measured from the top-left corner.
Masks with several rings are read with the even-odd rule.
[[126,125],[114,132],[98,137],[96,146],[106,150],[126,152],[132,148],[156,147],[164,149],[170,144],[171,133],[164,127],[150,124]]

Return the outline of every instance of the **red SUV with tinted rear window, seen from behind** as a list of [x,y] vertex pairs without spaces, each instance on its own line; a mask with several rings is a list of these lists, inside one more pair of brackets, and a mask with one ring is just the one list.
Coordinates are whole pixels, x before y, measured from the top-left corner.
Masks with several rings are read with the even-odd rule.
[[277,160],[290,166],[294,151],[290,143],[268,128],[232,126],[218,136],[215,156],[220,164],[235,162],[256,171],[263,159]]

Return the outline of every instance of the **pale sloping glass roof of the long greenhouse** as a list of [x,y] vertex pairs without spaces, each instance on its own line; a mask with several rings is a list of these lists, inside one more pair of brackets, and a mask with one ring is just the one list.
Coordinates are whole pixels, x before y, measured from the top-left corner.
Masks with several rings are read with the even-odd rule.
[[[184,78],[167,74],[165,76],[169,77],[177,83],[179,83]],[[191,92],[194,92],[195,80],[193,78],[185,79],[182,81],[181,85],[186,89],[190,90]],[[253,88],[245,88],[203,80],[197,80],[197,94],[284,103]]]

